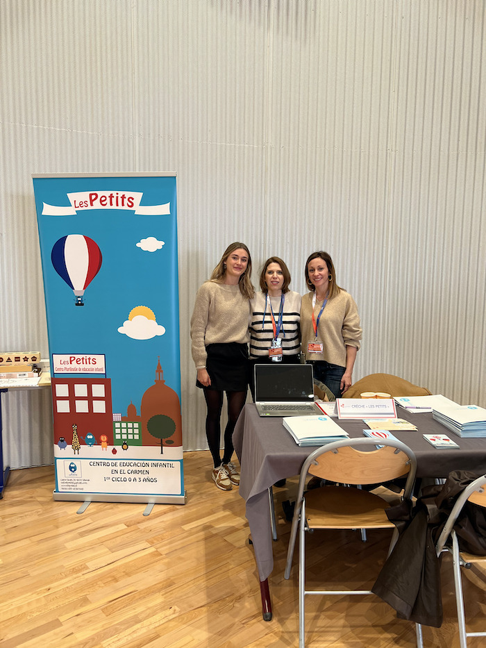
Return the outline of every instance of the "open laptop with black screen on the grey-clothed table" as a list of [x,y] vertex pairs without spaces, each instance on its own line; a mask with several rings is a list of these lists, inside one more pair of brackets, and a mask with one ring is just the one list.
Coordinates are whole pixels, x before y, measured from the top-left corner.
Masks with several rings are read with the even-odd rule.
[[314,402],[312,365],[255,365],[255,405],[260,416],[322,414]]

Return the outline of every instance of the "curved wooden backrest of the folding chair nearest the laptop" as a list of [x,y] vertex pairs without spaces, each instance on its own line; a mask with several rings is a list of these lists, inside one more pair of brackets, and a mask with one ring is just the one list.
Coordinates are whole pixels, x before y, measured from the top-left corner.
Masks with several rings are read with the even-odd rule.
[[383,447],[378,449],[377,440],[371,438],[329,443],[309,455],[302,472],[349,484],[383,483],[407,475],[409,497],[417,470],[413,451],[398,440],[380,439],[379,445]]

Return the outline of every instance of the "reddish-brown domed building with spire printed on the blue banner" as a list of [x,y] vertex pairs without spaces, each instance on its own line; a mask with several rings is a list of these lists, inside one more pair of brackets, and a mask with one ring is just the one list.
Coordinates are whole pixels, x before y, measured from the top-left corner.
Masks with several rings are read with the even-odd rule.
[[[162,419],[160,415],[164,418]],[[160,437],[156,438],[151,435],[147,427],[149,421],[157,416],[159,416],[158,420],[167,424],[167,430],[171,431],[171,429],[174,429],[174,433],[167,438],[162,434],[162,440],[160,440]],[[155,383],[142,396],[140,417],[142,418],[143,445],[160,445],[162,442],[163,445],[171,447],[182,446],[181,403],[177,393],[169,385],[165,384],[164,372],[160,366],[160,357],[158,358],[156,368]],[[169,419],[171,419],[173,424]]]

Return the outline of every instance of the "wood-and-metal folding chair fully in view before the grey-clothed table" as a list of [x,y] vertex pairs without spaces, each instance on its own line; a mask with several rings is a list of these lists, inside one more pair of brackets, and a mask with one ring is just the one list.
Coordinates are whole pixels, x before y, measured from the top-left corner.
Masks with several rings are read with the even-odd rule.
[[[285,578],[290,578],[292,558],[299,531],[299,648],[304,646],[305,595],[371,594],[371,590],[305,590],[305,531],[314,529],[394,529],[389,552],[398,531],[385,513],[389,502],[350,484],[361,485],[390,481],[407,475],[403,497],[410,499],[417,460],[412,450],[400,441],[358,438],[321,446],[305,460],[299,479],[294,508]],[[304,492],[308,474],[340,485],[325,485]]]

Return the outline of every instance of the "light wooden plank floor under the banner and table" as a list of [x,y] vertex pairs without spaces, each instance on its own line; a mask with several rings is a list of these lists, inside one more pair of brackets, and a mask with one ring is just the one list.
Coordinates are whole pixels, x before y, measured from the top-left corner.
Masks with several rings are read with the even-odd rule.
[[[275,488],[278,540],[270,578],[274,618],[262,620],[244,501],[210,481],[208,452],[184,456],[187,504],[53,501],[53,467],[12,471],[0,501],[1,648],[245,648],[298,645],[296,567],[283,571],[290,524]],[[310,576],[369,587],[389,535],[310,536]],[[424,628],[426,647],[458,646],[451,565],[442,565],[444,624]],[[467,573],[469,629],[485,618],[485,574]],[[473,584],[474,583],[474,584]],[[478,589],[479,585],[481,589]],[[342,586],[340,584],[340,586]],[[377,597],[307,597],[309,647],[414,647],[414,626]],[[477,627],[479,625],[479,627]],[[471,648],[484,638],[469,640]]]

